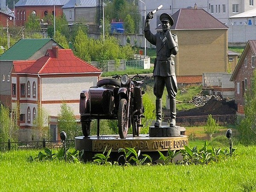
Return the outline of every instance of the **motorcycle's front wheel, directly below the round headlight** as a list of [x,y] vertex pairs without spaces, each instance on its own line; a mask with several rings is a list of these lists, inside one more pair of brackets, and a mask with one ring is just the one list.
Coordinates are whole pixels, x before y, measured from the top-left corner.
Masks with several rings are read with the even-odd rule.
[[119,110],[118,110],[118,132],[121,139],[125,139],[127,137],[127,101],[126,99],[121,99],[119,102]]

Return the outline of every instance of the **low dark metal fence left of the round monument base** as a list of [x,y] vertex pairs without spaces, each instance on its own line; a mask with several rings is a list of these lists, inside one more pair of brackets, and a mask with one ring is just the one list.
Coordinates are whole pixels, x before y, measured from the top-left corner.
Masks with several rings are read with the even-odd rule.
[[[75,147],[75,140],[66,140],[67,148]],[[50,149],[58,149],[61,148],[61,141],[30,141],[30,142],[8,142],[0,143],[0,151],[10,151],[10,150],[26,150],[26,149],[42,149],[42,148],[50,148]]]

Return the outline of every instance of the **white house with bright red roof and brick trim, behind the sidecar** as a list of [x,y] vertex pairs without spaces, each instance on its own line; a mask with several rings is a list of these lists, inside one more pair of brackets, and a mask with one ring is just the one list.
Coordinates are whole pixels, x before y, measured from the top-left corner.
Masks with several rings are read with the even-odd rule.
[[[48,116],[49,128],[56,139],[57,122],[62,102],[79,116],[81,90],[96,86],[101,71],[77,58],[71,49],[58,49],[52,45],[45,55],[37,60],[14,61],[12,69],[12,108],[20,103],[20,141],[38,140],[32,129],[38,114],[38,105]],[[34,135],[34,137],[33,137]]]

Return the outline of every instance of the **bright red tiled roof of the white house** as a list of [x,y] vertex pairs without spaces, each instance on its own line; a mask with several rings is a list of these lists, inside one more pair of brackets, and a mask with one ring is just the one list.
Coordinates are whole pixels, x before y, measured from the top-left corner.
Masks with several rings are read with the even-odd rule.
[[29,74],[101,73],[98,68],[77,58],[71,49],[58,49],[58,58],[55,58],[52,49],[48,49],[44,57],[34,61],[24,71]]

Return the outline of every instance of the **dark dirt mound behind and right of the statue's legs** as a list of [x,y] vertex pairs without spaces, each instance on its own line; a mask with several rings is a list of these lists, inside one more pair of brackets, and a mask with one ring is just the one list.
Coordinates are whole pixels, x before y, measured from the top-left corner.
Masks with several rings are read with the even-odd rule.
[[[203,116],[203,115],[233,115],[236,114],[237,106],[234,101],[218,101],[215,97],[202,107],[190,109],[188,111],[177,111],[177,116]],[[167,112],[167,111],[166,111]],[[169,114],[169,113],[167,113]]]

